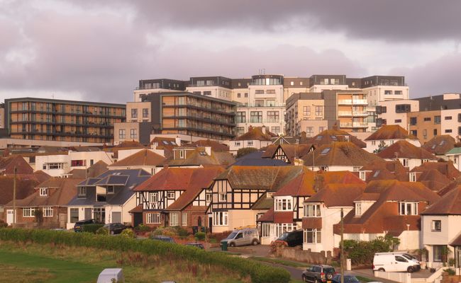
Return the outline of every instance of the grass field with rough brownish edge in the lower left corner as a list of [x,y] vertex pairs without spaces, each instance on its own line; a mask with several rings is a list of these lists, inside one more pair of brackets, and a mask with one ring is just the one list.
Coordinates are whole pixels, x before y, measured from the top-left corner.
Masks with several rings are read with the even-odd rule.
[[165,262],[140,253],[0,242],[1,282],[96,282],[107,267],[123,267],[126,282],[250,282],[216,266]]

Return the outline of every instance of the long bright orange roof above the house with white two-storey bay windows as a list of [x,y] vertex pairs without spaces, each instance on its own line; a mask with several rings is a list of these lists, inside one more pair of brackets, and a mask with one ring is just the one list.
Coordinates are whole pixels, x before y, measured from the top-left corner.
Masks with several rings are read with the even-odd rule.
[[304,170],[296,178],[281,187],[274,196],[304,196],[315,195],[321,192],[328,184],[360,184],[365,188],[365,182],[349,171],[312,172]]

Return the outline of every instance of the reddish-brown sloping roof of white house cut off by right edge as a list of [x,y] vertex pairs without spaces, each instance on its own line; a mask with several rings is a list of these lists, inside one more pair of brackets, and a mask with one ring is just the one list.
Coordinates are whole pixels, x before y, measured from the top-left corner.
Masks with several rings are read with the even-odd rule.
[[421,214],[424,215],[461,215],[461,186],[443,195]]

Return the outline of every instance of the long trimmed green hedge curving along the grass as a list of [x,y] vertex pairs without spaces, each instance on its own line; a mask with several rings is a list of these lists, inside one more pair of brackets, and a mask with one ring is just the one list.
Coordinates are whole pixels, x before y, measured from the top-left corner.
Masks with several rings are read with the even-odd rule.
[[133,251],[147,255],[160,255],[165,260],[190,260],[209,265],[219,265],[239,272],[241,276],[250,275],[255,283],[284,283],[290,281],[287,270],[264,265],[260,262],[236,258],[226,253],[207,252],[194,247],[182,246],[148,239],[138,240],[126,237],[111,237],[93,233],[70,233],[38,229],[0,229],[0,240],[33,243],[55,243],[66,246],[84,246],[106,250]]

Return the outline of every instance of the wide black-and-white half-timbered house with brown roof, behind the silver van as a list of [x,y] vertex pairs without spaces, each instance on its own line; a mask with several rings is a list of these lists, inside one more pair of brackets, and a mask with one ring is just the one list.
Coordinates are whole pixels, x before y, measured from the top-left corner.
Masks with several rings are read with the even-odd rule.
[[306,171],[303,166],[231,166],[211,185],[212,232],[255,226],[272,195]]

